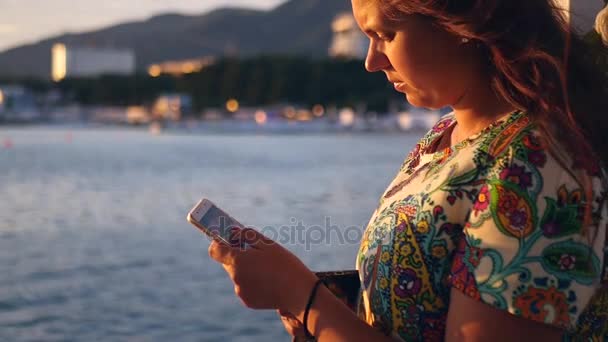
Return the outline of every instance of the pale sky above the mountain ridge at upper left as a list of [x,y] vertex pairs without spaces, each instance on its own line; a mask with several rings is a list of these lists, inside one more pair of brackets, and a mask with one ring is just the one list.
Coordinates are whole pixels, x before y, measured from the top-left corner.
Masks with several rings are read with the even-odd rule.
[[270,9],[284,0],[0,0],[0,51],[65,32],[98,29],[167,12],[217,7]]

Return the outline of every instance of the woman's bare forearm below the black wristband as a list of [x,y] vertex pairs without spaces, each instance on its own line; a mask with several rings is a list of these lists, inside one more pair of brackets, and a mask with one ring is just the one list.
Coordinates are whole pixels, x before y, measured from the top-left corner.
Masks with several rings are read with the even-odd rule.
[[[296,316],[302,322],[304,310],[299,310]],[[319,342],[394,341],[360,320],[325,286],[319,288],[310,308],[307,328]]]

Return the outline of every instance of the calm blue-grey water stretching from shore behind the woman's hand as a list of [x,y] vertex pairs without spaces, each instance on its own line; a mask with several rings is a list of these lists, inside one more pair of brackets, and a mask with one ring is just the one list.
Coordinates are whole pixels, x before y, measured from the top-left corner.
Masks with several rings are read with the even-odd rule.
[[[0,129],[0,340],[287,341],[186,213],[205,196],[247,225],[360,231],[416,140]],[[314,270],[354,267],[356,243],[296,242]]]

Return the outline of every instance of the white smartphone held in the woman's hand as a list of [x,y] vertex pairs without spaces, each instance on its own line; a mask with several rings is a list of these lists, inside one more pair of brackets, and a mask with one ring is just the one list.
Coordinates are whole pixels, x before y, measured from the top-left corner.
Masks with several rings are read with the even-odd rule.
[[230,246],[235,244],[231,239],[232,229],[244,228],[237,220],[206,198],[201,199],[190,210],[187,219],[203,233]]

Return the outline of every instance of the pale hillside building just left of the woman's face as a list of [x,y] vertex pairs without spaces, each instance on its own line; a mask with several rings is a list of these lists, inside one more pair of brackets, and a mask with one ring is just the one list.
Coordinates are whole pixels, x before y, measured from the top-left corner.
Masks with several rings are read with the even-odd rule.
[[339,14],[332,23],[334,37],[329,48],[331,57],[364,59],[367,54],[367,38],[351,13]]

